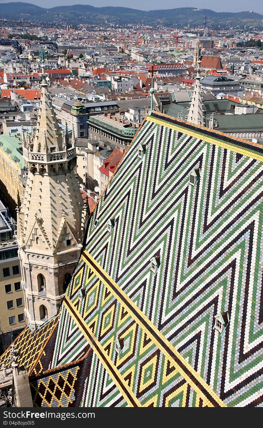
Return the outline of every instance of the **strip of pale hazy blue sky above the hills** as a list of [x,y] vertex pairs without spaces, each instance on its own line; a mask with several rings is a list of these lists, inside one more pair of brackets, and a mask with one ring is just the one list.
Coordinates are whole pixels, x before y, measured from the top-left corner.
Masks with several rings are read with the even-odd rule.
[[[0,3],[9,3],[6,0],[0,0]],[[132,0],[129,2],[123,2],[122,0],[24,0],[24,3],[33,3],[42,7],[54,7],[54,6],[66,6],[72,4],[90,4],[92,6],[122,6],[131,7],[133,9],[140,10],[151,10],[151,9],[174,9],[177,7],[186,7],[187,0],[185,2],[176,0],[166,0],[160,2],[160,0]],[[200,9],[212,9],[216,12],[241,12],[244,10],[253,10],[253,12],[263,14],[263,2],[260,0],[189,0],[188,6],[199,7]]]

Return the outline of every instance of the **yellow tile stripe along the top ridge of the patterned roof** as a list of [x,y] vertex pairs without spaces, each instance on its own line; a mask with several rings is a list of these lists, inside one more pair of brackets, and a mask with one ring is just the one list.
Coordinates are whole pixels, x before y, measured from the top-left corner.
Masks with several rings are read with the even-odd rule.
[[[145,120],[148,120],[149,122],[157,123],[158,125],[163,125],[166,128],[173,129],[174,131],[179,131],[185,133],[186,130],[183,126],[180,125],[173,125],[172,123],[157,119],[156,117],[147,116]],[[251,147],[251,151],[248,149],[243,149],[240,146],[232,146],[231,144],[226,143],[225,141],[220,140],[220,135],[218,136],[218,140],[214,137],[210,137],[209,135],[202,134],[202,132],[196,130],[192,130],[187,128],[187,135],[191,135],[191,137],[198,138],[199,140],[206,141],[207,143],[215,144],[216,146],[222,147],[223,149],[231,150],[234,153],[239,153],[240,155],[248,156],[249,158],[260,160],[263,162],[263,155],[260,155],[260,153],[256,153],[253,151],[253,148]],[[227,134],[226,134],[227,135]],[[231,138],[231,136],[229,136]],[[248,142],[249,143],[249,142]],[[238,144],[238,141],[236,142]]]

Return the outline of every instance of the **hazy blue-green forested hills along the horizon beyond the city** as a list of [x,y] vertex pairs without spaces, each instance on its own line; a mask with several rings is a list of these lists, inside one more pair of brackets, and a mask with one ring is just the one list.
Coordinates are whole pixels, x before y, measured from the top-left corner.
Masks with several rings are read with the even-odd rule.
[[56,6],[45,9],[31,3],[2,3],[0,17],[40,22],[71,21],[72,23],[174,25],[178,28],[187,24],[190,27],[203,26],[207,16],[207,26],[210,28],[225,28],[244,25],[263,28],[263,15],[255,12],[214,12],[210,9],[195,9],[182,7],[177,9],[142,11],[126,7],[94,7],[90,5]]

